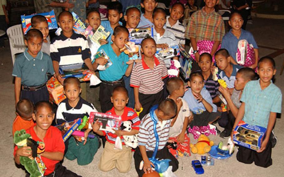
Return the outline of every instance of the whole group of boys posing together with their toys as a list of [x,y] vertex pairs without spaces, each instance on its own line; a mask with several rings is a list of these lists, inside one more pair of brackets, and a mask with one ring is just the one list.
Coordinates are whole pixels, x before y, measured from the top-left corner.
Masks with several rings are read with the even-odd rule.
[[[252,35],[241,29],[243,21],[238,13],[231,15],[229,24],[232,30],[223,37],[223,21],[220,21],[220,17],[213,12],[216,3],[217,0],[205,0],[205,7],[193,13],[185,30],[179,22],[184,14],[184,6],[180,3],[174,4],[170,9],[170,16],[166,17],[163,9],[155,8],[157,6],[155,0],[141,0],[144,13],[136,7],[127,9],[124,16],[126,25],[121,26],[119,21],[123,16],[121,4],[111,2],[108,8],[108,21],[101,22],[97,11],[91,11],[87,15],[86,22],[94,30],[103,25],[111,33],[107,40],[100,40],[99,48],[91,45],[92,41],[89,39],[74,33],[73,17],[68,11],[59,14],[58,26],[61,27],[62,32],[51,39],[51,42],[46,18],[40,15],[32,17],[32,29],[25,36],[27,49],[17,56],[12,72],[15,76],[17,112],[13,133],[27,129],[27,133],[32,134],[35,140],[44,141],[46,149],[41,155],[47,166],[46,176],[77,176],[66,170],[59,161],[65,155],[69,160],[77,159],[79,165],[91,163],[100,147],[100,138],[105,139],[106,142],[103,141],[104,151],[100,158],[99,169],[109,171],[117,168],[121,173],[127,173],[130,170],[132,154],[131,148],[124,143],[123,135],[135,134],[138,134],[139,144],[139,148],[136,148],[134,153],[135,169],[138,175],[142,176],[152,171],[153,164],[149,158],[155,150],[157,141],[153,129],[155,122],[159,138],[156,158],[170,159],[169,164],[173,167],[172,170],[176,171],[179,162],[166,146],[169,137],[175,137],[178,143],[182,143],[188,138],[186,133],[188,126],[206,126],[218,120],[221,112],[217,111],[215,103],[220,102],[218,95],[221,93],[230,109],[227,116],[228,123],[224,126],[225,130],[220,134],[221,137],[229,137],[242,119],[247,123],[267,127],[260,150],[256,152],[240,147],[237,160],[244,163],[255,161],[256,165],[264,167],[272,164],[271,132],[276,112],[281,112],[282,101],[280,89],[271,83],[276,72],[275,62],[272,58],[263,57],[259,61],[256,60],[257,62],[250,68],[241,68],[232,64],[235,60],[231,56],[236,55],[237,50],[237,44],[232,43],[232,38],[236,42],[247,39],[253,43],[256,57],[258,57],[257,45],[254,44]],[[147,37],[141,42],[141,59],[130,60],[121,50],[128,41],[128,28],[145,25],[154,25],[154,38]],[[161,60],[155,57],[157,49],[178,44],[184,46],[185,37],[191,39],[193,54],[200,69],[190,74],[188,81],[190,88],[187,91],[184,91],[184,82],[181,79],[168,78],[167,63],[179,58]],[[199,54],[198,40],[213,41],[208,53]],[[226,40],[229,40],[230,44],[223,46],[223,42],[228,43]],[[221,41],[223,49],[217,50]],[[224,49],[226,47],[228,50]],[[90,116],[90,112],[97,112],[97,109],[92,103],[80,97],[82,83],[74,77],[63,79],[59,67],[85,63],[95,74],[98,65],[107,63],[104,58],[93,58],[100,49],[109,56],[112,65],[99,71],[101,84],[99,99],[95,101],[100,100],[102,112],[121,116],[122,121],[131,120],[132,130],[101,131],[100,122],[96,121],[84,130],[83,138],[72,136],[64,144],[59,130],[51,126],[55,114],[48,103],[47,73],[59,80],[67,97],[58,105],[56,123],[73,121],[85,115]],[[218,76],[226,81],[228,89],[219,86],[218,82],[213,80],[216,74],[212,71],[214,63],[219,69]],[[256,67],[260,79],[252,81],[255,78],[253,69]],[[98,92],[97,89],[87,89]],[[133,94],[130,94],[131,92]],[[128,104],[131,101],[132,105]],[[151,113],[151,108],[157,104],[157,109]],[[136,111],[140,110],[142,112],[138,116]],[[33,121],[36,123],[34,124]],[[95,138],[88,138],[90,132],[95,133]],[[114,149],[117,137],[122,140],[122,150]],[[20,163],[20,156],[30,155],[28,147],[19,149],[15,147],[14,156],[17,164]],[[141,161],[144,162],[143,168],[140,168]]]

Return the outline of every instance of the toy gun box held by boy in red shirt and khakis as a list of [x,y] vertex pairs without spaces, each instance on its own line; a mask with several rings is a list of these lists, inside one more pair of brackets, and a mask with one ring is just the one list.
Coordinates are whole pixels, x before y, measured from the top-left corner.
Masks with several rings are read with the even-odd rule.
[[90,112],[90,122],[99,119],[100,130],[114,132],[112,129],[118,130],[121,125],[121,117],[113,114],[101,112]]

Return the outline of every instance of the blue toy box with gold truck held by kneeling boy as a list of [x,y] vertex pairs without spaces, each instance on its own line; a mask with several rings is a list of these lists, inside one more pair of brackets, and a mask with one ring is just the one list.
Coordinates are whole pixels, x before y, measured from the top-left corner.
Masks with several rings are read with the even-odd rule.
[[265,132],[266,128],[264,127],[240,121],[234,130],[233,141],[237,145],[257,151],[261,147],[261,139]]

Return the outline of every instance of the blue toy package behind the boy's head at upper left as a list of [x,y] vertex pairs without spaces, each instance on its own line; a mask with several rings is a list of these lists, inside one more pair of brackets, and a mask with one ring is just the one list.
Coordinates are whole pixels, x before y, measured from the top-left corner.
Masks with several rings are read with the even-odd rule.
[[24,34],[27,34],[27,31],[29,31],[29,29],[31,29],[31,27],[32,27],[31,19],[35,15],[42,15],[42,16],[46,17],[49,30],[57,29],[57,22],[56,22],[55,13],[54,13],[54,10],[52,10],[50,12],[38,13],[38,14],[27,15],[27,16],[21,15],[22,28],[23,28]]

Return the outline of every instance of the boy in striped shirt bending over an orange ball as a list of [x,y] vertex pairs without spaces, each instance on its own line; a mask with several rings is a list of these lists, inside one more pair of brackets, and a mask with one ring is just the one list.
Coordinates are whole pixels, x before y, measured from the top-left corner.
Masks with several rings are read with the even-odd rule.
[[[159,146],[157,159],[170,159],[169,166],[172,166],[172,171],[176,171],[179,168],[179,161],[169,152],[166,147],[166,143],[169,141],[169,129],[171,119],[177,114],[177,105],[172,99],[163,100],[158,108],[154,110],[154,119],[157,121],[156,131],[159,137]],[[155,146],[156,137],[154,133],[154,121],[150,117],[150,113],[147,114],[140,124],[138,145],[134,153],[135,169],[138,175],[141,177],[144,173],[152,172],[154,164],[149,160],[152,157]],[[143,161],[143,162],[142,162]],[[143,164],[143,169],[141,168]]]

